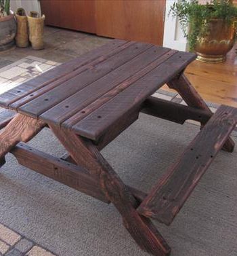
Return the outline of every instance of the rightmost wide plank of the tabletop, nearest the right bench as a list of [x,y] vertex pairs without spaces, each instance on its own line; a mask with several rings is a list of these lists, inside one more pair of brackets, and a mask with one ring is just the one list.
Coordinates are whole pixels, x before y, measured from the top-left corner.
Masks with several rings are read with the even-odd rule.
[[98,141],[116,120],[141,105],[148,96],[171,80],[195,58],[196,54],[187,52],[178,52],[171,56],[162,65],[72,126],[72,130],[88,139]]

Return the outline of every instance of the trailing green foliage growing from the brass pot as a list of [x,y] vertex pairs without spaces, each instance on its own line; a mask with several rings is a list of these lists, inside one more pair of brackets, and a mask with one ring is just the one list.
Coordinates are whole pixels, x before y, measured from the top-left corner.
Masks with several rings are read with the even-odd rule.
[[231,0],[211,0],[204,5],[196,0],[181,0],[171,6],[169,14],[179,18],[190,51],[193,51],[198,37],[209,33],[209,21],[218,18],[233,22],[237,18],[237,7]]

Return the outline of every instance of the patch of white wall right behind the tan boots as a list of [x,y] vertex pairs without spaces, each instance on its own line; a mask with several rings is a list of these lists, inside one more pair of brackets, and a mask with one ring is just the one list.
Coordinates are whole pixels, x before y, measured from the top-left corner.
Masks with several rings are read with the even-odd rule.
[[26,14],[30,11],[35,11],[41,13],[39,0],[11,0],[10,1],[11,10],[16,12],[19,7],[24,8]]

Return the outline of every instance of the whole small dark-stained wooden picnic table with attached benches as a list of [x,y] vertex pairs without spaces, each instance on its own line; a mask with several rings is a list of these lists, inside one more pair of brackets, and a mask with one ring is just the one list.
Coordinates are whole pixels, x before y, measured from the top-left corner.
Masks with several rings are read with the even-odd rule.
[[[229,135],[237,111],[221,106],[211,113],[184,75],[195,58],[193,53],[114,39],[1,94],[0,106],[17,112],[7,111],[0,122],[0,128],[5,126],[0,134],[1,165],[11,152],[23,166],[112,202],[142,249],[169,255],[169,245],[150,218],[169,225],[217,152],[234,149]],[[188,106],[151,96],[164,84]],[[196,120],[202,128],[148,194],[125,185],[100,153],[141,111],[179,124]],[[56,158],[26,145],[45,127],[68,156]]]

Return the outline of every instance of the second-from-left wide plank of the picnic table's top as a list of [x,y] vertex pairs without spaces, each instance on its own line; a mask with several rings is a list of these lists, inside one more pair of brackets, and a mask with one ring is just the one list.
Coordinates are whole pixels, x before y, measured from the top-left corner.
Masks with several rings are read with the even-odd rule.
[[85,88],[85,86],[93,83],[93,81],[96,81],[100,77],[110,73],[117,67],[120,67],[125,62],[135,58],[135,56],[141,54],[151,47],[152,45],[148,43],[134,43],[133,45],[123,49],[123,51],[119,52],[118,54],[115,54],[103,62],[100,62],[98,65],[93,65],[91,69],[72,77],[65,83],[62,83],[56,88],[49,90],[49,92],[46,92],[29,103],[22,105],[18,108],[18,111],[20,113],[26,113],[32,117],[39,117],[39,115],[47,111],[47,109],[50,109],[65,98],[68,98],[72,94]]

